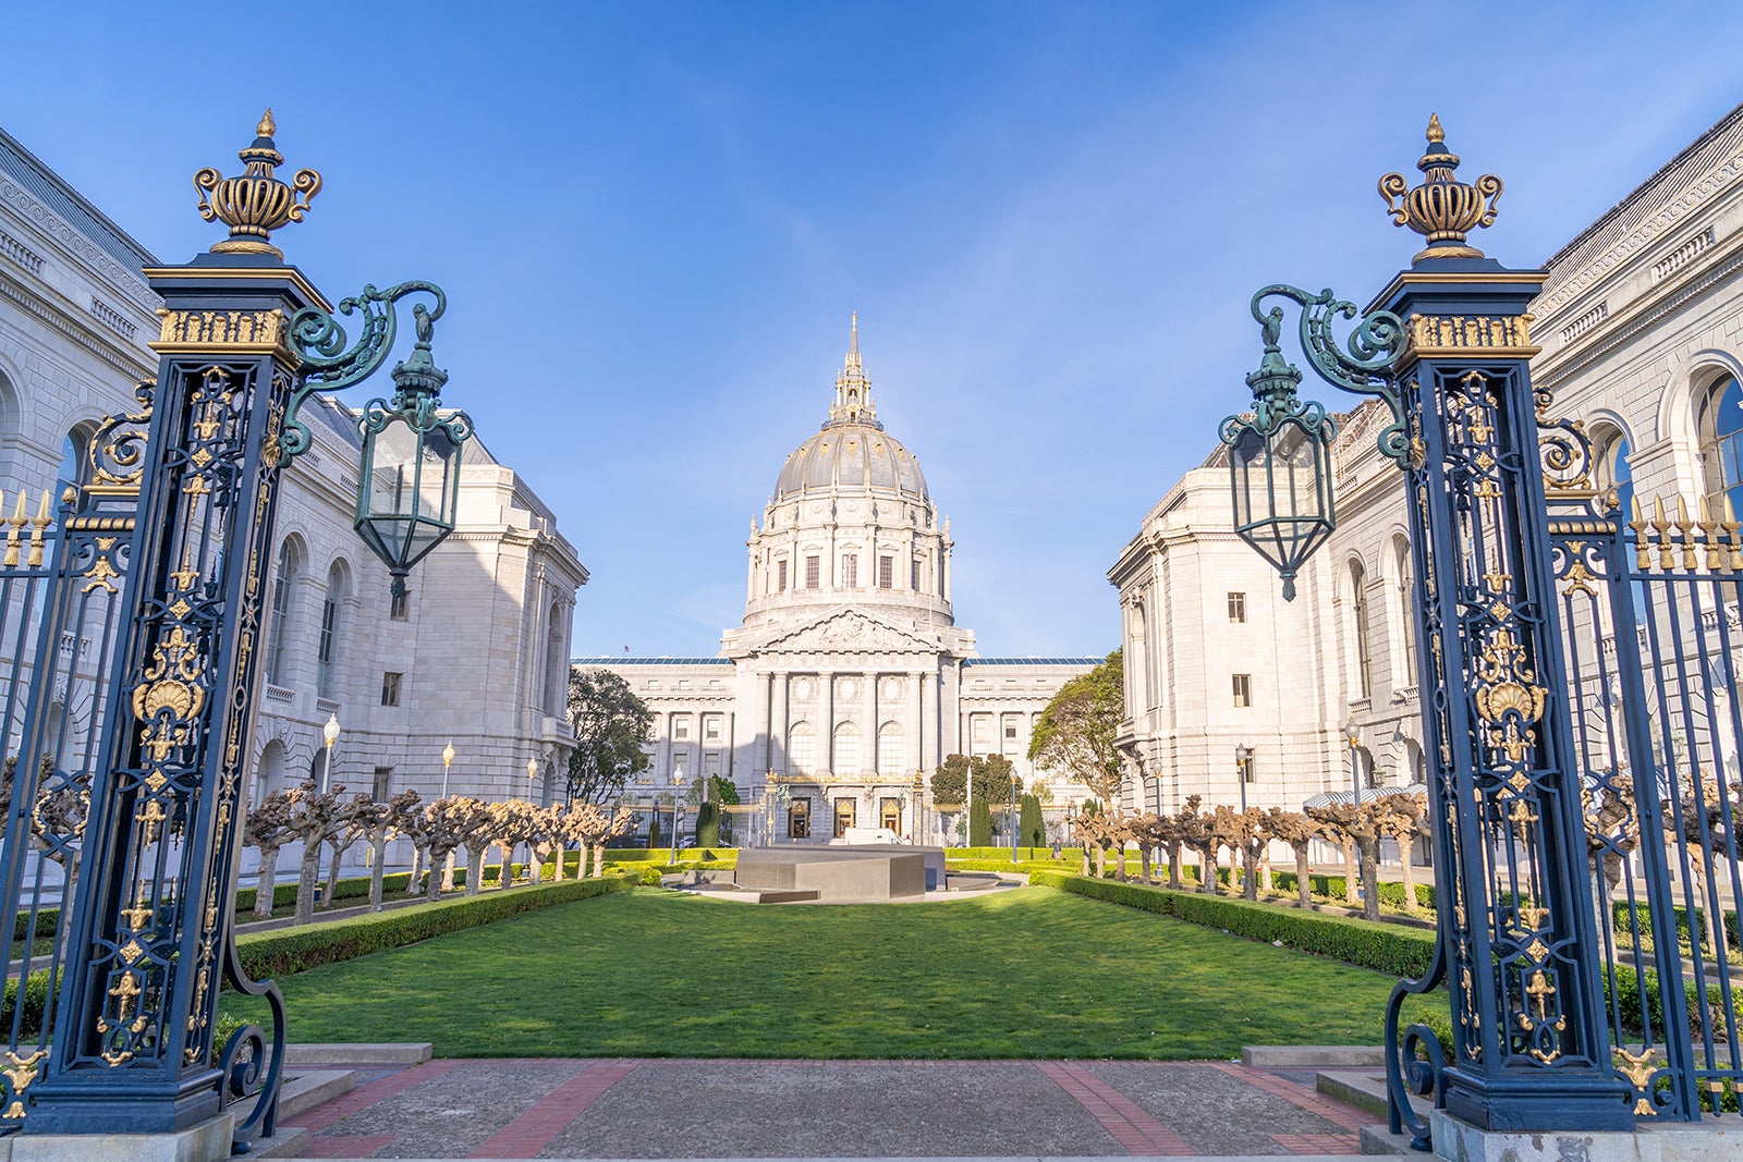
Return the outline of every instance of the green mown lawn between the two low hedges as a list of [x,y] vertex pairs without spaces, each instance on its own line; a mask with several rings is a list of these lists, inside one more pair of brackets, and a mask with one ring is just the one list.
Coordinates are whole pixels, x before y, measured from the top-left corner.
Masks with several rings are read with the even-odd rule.
[[1190,1059],[1375,1045],[1393,979],[1053,888],[797,908],[636,888],[281,984],[291,1040],[444,1057]]

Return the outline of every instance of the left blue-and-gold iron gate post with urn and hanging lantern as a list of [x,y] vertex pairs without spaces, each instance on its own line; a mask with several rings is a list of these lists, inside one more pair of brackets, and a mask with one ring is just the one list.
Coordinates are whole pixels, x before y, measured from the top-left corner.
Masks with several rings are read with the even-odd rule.
[[[446,373],[431,359],[446,296],[401,282],[342,300],[338,315],[361,314],[347,347],[333,307],[270,242],[321,192],[312,169],[275,176],[274,132],[268,111],[239,153],[241,174],[195,174],[200,216],[230,237],[145,270],[162,300],[155,383],[138,392],[139,415],[105,423],[96,455],[110,486],[77,502],[78,521],[122,530],[110,535],[115,561],[127,561],[125,620],[44,1038],[52,1049],[24,1134],[183,1131],[239,1096],[228,1087],[244,1075],[256,1099],[237,1115],[237,1141],[272,1132],[284,1005],[275,986],[234,969],[230,899],[281,477],[312,444],[302,404],[380,369],[396,347],[396,303],[413,293],[434,307],[413,308],[417,343],[392,369],[392,399],[361,409],[354,526],[401,592],[406,570],[453,531],[471,420],[443,406]],[[225,976],[267,998],[272,1028],[239,1030],[214,1063]]]

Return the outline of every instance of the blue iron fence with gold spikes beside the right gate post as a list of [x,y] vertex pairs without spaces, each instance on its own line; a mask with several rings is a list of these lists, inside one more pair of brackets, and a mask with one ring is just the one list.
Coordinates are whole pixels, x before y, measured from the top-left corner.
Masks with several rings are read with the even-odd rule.
[[1551,505],[1611,1052],[1642,1118],[1736,1111],[1743,535],[1727,497]]

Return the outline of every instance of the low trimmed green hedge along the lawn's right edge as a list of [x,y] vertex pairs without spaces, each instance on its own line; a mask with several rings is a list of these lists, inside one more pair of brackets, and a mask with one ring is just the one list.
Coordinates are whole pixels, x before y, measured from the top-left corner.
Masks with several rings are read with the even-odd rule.
[[1375,969],[1391,976],[1417,977],[1428,970],[1434,955],[1434,934],[1391,923],[1325,916],[1312,911],[1255,904],[1225,895],[1199,895],[1171,888],[1093,880],[1060,871],[1037,871],[1030,883],[1060,888],[1102,899],[1126,908],[1140,908],[1164,916],[1175,916],[1206,929],[1222,929],[1232,936],[1283,944],[1304,953],[1342,960],[1361,969]]

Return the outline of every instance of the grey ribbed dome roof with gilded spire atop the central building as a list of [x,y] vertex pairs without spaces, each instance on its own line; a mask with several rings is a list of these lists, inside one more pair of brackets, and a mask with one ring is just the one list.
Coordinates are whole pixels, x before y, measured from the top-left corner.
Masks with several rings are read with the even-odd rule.
[[847,364],[835,376],[835,402],[823,430],[781,465],[779,503],[805,491],[880,491],[931,502],[920,462],[884,430],[872,404],[872,382],[859,361],[859,315],[847,340]]

